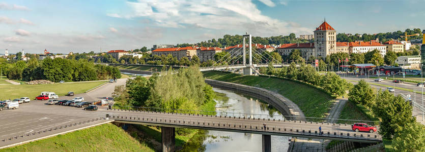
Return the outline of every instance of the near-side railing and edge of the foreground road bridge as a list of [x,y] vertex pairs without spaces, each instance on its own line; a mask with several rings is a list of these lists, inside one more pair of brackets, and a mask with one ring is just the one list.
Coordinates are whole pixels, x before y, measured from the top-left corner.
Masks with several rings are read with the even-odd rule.
[[[178,114],[175,114],[178,115]],[[208,117],[208,116],[206,116]],[[173,124],[180,126],[199,126],[199,127],[210,127],[210,128],[223,128],[223,129],[237,129],[237,130],[250,130],[250,131],[264,131],[264,132],[276,132],[276,133],[289,133],[289,134],[301,134],[301,135],[313,135],[313,136],[326,136],[326,137],[343,137],[353,139],[376,139],[380,140],[381,136],[377,133],[364,133],[364,132],[353,132],[345,131],[344,129],[338,130],[321,130],[303,128],[302,125],[299,127],[282,127],[282,126],[266,126],[254,125],[251,123],[226,123],[226,122],[215,122],[215,121],[194,121],[185,119],[170,119],[163,117],[140,117],[131,115],[119,115],[110,114],[108,118],[120,121],[131,121],[131,122],[146,122],[146,123],[159,123],[159,124]],[[237,119],[237,118],[235,118]]]

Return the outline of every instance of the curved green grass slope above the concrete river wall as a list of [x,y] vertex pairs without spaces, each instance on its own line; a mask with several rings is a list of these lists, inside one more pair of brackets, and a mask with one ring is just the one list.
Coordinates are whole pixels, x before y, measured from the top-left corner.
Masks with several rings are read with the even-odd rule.
[[324,118],[332,106],[332,97],[329,94],[293,81],[220,71],[205,71],[204,77],[277,92],[297,104],[306,117]]

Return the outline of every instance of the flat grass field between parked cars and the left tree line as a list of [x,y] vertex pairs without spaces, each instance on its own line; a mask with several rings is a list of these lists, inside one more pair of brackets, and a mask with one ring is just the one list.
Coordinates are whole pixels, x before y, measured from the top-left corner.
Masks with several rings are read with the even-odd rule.
[[51,85],[0,85],[0,99],[16,99],[21,97],[29,97],[34,99],[40,95],[42,91],[55,92],[59,96],[64,96],[69,91],[75,94],[84,93],[96,86],[99,86],[106,81],[97,82],[76,82],[65,84],[51,84]]

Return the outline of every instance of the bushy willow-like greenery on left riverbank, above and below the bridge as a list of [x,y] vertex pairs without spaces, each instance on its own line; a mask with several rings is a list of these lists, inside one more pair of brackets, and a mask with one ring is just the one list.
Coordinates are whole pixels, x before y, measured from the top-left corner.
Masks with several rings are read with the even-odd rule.
[[[161,75],[153,74],[149,79],[136,77],[128,80],[125,86],[115,88],[113,95],[116,104],[114,107],[163,108],[167,109],[164,110],[167,112],[182,112],[173,109],[214,111],[215,92],[204,80],[203,74],[196,66],[178,70],[169,69],[161,72]],[[160,136],[160,127],[138,126],[135,128],[141,132],[152,134],[151,137]],[[179,139],[176,140],[178,141],[176,142],[177,149],[182,147],[185,149],[185,144],[193,144],[188,142],[193,140],[192,137],[199,138],[199,135],[196,134],[204,133],[195,129],[176,128],[176,138]],[[159,138],[154,138],[154,140],[158,141]]]

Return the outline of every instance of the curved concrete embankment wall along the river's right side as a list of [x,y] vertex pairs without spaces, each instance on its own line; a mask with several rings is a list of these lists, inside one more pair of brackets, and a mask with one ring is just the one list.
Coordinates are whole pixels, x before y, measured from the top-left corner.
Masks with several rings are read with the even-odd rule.
[[261,99],[269,103],[273,107],[275,107],[277,110],[279,110],[280,113],[282,113],[282,115],[304,117],[304,113],[301,111],[298,105],[296,105],[292,101],[289,101],[284,96],[278,93],[269,91],[267,89],[241,85],[241,84],[228,83],[228,82],[221,82],[221,81],[210,80],[210,79],[206,79],[205,82],[211,85],[212,87],[222,88],[226,90],[233,90],[236,92],[240,92],[240,93],[247,94],[249,96]]

